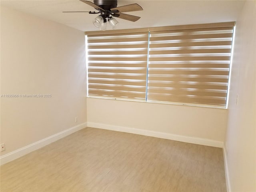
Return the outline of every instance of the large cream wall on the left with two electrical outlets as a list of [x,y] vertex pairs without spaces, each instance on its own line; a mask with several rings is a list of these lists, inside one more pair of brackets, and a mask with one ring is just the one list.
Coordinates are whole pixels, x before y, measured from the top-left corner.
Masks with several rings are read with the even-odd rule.
[[1,155],[86,122],[84,52],[82,31],[1,6],[1,94],[52,95],[1,98]]

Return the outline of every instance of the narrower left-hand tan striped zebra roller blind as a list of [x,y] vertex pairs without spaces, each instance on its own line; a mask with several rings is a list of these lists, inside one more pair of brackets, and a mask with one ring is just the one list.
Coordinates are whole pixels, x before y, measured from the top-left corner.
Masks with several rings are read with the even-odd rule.
[[148,32],[87,38],[88,95],[145,100]]

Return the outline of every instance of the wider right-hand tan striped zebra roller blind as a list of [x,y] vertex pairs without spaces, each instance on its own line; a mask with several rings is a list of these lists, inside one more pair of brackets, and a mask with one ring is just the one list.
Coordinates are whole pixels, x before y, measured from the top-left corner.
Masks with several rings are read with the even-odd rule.
[[148,100],[225,106],[233,27],[150,32]]

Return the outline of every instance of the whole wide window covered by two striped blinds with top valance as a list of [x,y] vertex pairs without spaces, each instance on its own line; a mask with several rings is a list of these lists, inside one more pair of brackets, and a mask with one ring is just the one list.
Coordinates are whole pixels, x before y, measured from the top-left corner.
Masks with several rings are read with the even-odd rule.
[[234,24],[86,32],[88,96],[225,107]]

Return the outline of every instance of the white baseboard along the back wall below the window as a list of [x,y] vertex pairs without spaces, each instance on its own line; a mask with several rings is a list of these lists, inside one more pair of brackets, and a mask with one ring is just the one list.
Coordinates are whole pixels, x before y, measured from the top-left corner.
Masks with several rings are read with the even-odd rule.
[[145,135],[145,136],[152,136],[157,138],[170,139],[175,141],[182,141],[182,142],[193,143],[193,144],[212,146],[212,147],[219,147],[219,148],[223,147],[223,142],[221,141],[204,139],[204,138],[188,137],[188,136],[156,132],[156,131],[150,131],[150,130],[142,130],[142,129],[136,129],[136,128],[130,128],[130,127],[112,126],[112,125],[100,124],[100,123],[94,123],[94,122],[87,122],[87,126],[93,127],[93,128],[107,129],[107,130],[113,130],[113,131]]

